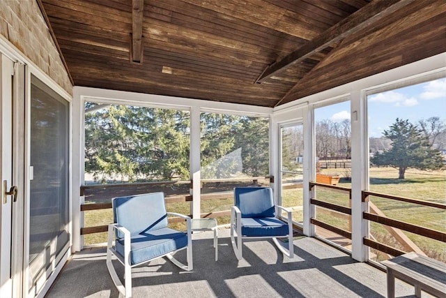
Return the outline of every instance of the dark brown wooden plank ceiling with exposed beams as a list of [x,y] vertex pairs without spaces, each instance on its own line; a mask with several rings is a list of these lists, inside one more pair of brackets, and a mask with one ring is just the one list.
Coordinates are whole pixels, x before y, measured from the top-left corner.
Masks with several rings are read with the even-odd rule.
[[38,0],[76,86],[275,107],[446,52],[444,0]]

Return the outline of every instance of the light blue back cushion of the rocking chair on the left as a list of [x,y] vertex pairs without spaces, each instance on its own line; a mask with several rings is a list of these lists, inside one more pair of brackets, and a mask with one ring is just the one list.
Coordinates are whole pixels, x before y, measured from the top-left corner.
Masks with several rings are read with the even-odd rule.
[[[125,227],[132,236],[167,227],[164,193],[114,198],[112,205],[114,223]],[[118,232],[116,237],[122,238],[123,234]]]

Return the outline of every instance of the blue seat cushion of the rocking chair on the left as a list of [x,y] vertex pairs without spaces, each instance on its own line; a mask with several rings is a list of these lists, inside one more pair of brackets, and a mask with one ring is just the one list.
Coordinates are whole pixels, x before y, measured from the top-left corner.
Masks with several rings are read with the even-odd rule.
[[[157,258],[187,246],[187,234],[169,228],[150,230],[131,238],[130,262],[132,265]],[[124,256],[124,239],[116,240],[116,251]]]

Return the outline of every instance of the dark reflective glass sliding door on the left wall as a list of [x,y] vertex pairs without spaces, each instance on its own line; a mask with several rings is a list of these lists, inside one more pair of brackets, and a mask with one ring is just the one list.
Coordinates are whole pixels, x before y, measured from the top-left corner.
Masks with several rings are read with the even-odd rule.
[[38,293],[68,250],[69,105],[31,75],[29,276]]

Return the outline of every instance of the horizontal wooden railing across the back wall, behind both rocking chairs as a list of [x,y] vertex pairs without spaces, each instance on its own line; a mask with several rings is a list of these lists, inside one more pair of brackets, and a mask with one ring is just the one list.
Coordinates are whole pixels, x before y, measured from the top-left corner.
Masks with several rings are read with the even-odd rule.
[[[270,183],[274,181],[274,177],[246,177],[246,178],[233,178],[233,179],[202,179],[201,184],[208,183],[224,183],[224,182],[252,182],[252,184],[257,184],[261,179],[269,179]],[[80,187],[80,195],[84,196],[89,190],[100,190],[107,188],[139,188],[144,186],[174,186],[176,184],[189,184],[190,189],[192,189],[191,180],[182,181],[155,181],[155,182],[144,182],[144,183],[134,183],[134,184],[101,184],[101,185],[83,185]],[[232,191],[226,191],[222,193],[202,193],[201,200],[218,200],[222,198],[228,198],[232,195]],[[109,198],[110,200],[112,198]],[[164,198],[166,204],[176,203],[176,202],[192,202],[192,195],[171,195]],[[112,202],[100,202],[100,203],[86,203],[81,204],[80,211],[92,211],[100,209],[112,209]],[[202,213],[201,217],[219,218],[222,216],[229,216],[230,210],[224,211],[213,211],[209,213]],[[191,216],[191,215],[190,215]],[[182,218],[169,217],[169,223],[176,223],[183,221]],[[93,227],[81,228],[80,234],[94,234],[99,232],[107,232],[107,225],[97,225]]]

